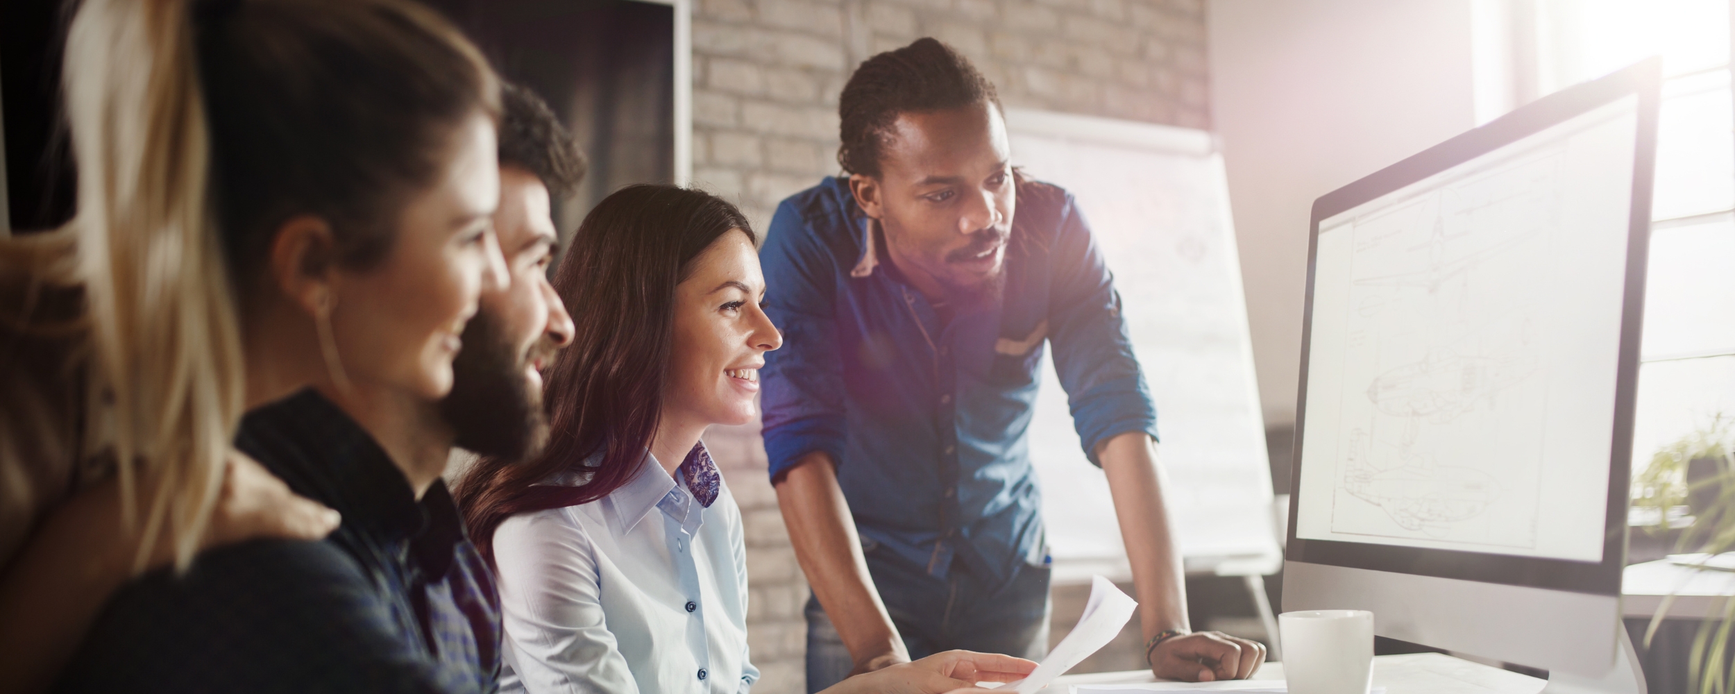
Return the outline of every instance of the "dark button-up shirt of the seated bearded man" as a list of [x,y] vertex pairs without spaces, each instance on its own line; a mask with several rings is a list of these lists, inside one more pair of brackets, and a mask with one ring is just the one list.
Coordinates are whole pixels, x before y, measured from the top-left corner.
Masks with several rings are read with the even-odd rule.
[[344,514],[324,541],[201,553],[109,602],[59,691],[491,692],[500,599],[442,482],[418,501],[312,390],[250,413],[236,448]]

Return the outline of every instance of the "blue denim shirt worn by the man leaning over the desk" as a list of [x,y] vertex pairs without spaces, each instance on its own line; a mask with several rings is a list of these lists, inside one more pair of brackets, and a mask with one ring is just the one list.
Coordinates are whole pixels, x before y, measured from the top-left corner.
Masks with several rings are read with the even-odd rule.
[[998,300],[935,307],[880,262],[845,179],[777,206],[760,262],[784,345],[762,370],[777,481],[826,451],[864,541],[944,578],[954,559],[1005,586],[1046,555],[1027,430],[1043,349],[1084,453],[1156,437],[1121,297],[1072,196],[1018,177]]

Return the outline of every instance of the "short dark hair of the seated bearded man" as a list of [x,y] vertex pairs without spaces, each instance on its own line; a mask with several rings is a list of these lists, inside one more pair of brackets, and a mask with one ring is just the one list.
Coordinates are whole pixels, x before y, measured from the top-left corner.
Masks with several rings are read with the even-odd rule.
[[526,87],[501,85],[500,106],[500,165],[536,174],[550,198],[573,194],[586,168],[573,134]]

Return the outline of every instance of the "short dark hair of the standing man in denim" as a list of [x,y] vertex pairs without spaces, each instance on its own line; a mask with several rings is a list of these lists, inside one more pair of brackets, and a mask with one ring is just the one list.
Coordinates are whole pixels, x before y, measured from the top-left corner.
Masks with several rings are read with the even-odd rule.
[[944,111],[972,104],[999,106],[994,83],[953,47],[918,38],[869,57],[838,97],[838,165],[880,177],[880,147],[899,113]]

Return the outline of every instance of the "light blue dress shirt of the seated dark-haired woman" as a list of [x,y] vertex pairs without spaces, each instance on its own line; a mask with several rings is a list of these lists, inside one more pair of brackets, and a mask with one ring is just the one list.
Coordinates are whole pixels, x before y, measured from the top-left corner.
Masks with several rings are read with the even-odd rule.
[[501,522],[494,562],[501,692],[736,694],[758,680],[741,508],[727,484],[701,507],[645,455],[602,500]]

